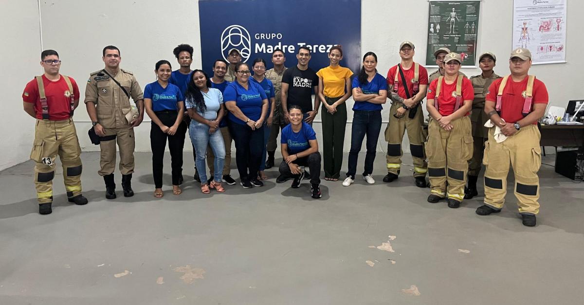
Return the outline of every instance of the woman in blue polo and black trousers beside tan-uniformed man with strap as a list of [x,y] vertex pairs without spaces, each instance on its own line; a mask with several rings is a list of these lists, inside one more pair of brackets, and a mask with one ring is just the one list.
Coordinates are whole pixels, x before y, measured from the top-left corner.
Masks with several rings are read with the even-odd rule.
[[185,98],[179,87],[168,82],[171,77],[171,63],[158,61],[155,69],[158,80],[144,88],[144,108],[152,120],[150,128],[150,147],[152,149],[152,176],[154,176],[154,197],[161,198],[162,167],[164,149],[168,139],[171,152],[172,193],[180,195],[179,184],[182,180],[182,152],[185,145],[186,123],[182,120],[185,113]]

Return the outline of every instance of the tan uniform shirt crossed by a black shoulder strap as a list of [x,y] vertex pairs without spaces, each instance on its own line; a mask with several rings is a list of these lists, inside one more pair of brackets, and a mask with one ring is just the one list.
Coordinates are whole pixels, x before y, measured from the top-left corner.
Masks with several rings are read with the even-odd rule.
[[[126,89],[134,103],[144,99],[142,89],[132,72],[120,69],[114,78]],[[125,117],[131,110],[130,99],[103,70],[89,75],[85,87],[85,103],[88,101],[96,104],[98,121],[103,127],[124,128],[130,125]]]

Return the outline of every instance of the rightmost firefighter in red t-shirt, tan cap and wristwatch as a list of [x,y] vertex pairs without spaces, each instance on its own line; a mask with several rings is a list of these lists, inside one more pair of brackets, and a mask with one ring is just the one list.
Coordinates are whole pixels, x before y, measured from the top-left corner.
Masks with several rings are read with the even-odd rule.
[[509,58],[511,75],[495,80],[485,98],[485,113],[499,127],[505,141],[497,143],[489,130],[483,163],[485,170],[485,205],[478,215],[498,213],[505,204],[509,164],[515,174],[515,197],[523,225],[535,226],[540,211],[540,183],[537,171],[541,166],[540,131],[537,120],[543,117],[548,103],[545,85],[528,75],[531,52],[517,48]]

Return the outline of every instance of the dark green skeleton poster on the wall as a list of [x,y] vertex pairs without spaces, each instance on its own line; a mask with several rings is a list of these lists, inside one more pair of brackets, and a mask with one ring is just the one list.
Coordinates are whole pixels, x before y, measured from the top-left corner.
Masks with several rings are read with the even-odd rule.
[[474,66],[481,1],[430,1],[426,66],[436,66],[434,51],[447,47]]

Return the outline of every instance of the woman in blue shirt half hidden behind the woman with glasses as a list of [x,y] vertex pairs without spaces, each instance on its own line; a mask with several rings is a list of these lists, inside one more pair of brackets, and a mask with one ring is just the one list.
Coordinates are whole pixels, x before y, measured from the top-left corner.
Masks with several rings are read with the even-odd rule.
[[272,127],[272,120],[274,117],[274,108],[276,108],[276,94],[274,93],[274,84],[271,80],[264,77],[266,73],[266,61],[263,58],[256,58],[253,61],[253,76],[249,78],[252,82],[258,83],[263,90],[266,92],[267,99],[267,120],[263,128],[263,150],[262,150],[262,161],[259,163],[259,173],[258,176],[262,180],[267,180],[267,176],[263,173],[266,169],[266,156],[267,156],[267,140],[270,138],[270,127]]

